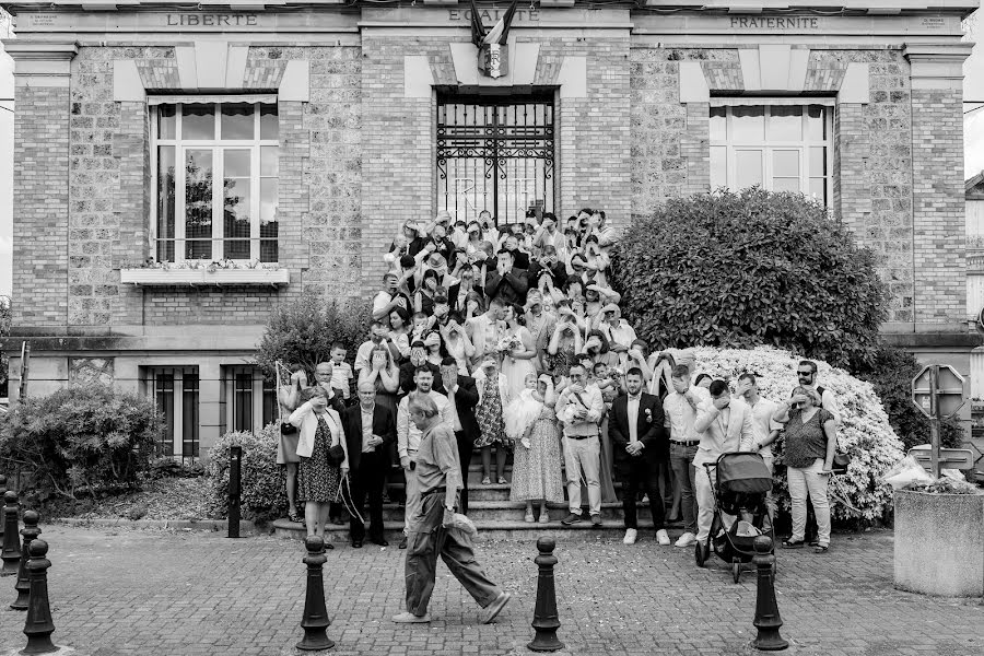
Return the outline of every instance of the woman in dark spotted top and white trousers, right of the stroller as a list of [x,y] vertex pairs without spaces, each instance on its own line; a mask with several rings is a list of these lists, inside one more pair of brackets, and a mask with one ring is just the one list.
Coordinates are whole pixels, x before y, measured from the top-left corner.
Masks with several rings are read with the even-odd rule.
[[793,535],[783,541],[785,549],[804,544],[807,495],[817,515],[817,544],[813,553],[827,553],[830,548],[830,500],[827,485],[837,448],[836,422],[833,414],[820,407],[820,395],[807,387],[793,390],[793,398],[772,415],[785,424],[786,478],[793,504]]

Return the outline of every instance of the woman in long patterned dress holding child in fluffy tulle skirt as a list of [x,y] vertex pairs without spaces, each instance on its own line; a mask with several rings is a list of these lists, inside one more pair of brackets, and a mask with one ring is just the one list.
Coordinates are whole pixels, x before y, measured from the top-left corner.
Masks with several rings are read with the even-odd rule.
[[[527,388],[506,408],[506,427],[522,433],[513,449],[509,501],[525,501],[524,520],[535,522],[532,503],[540,502],[540,524],[550,522],[547,503],[564,501],[561,475],[561,432],[554,412],[553,379],[527,376]],[[525,425],[523,425],[525,424]],[[515,444],[515,443],[514,443]]]

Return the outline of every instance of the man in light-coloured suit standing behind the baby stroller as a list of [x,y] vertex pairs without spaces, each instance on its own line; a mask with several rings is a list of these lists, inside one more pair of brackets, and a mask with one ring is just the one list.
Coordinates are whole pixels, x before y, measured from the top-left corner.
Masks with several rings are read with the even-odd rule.
[[694,430],[701,436],[701,444],[693,457],[696,470],[694,483],[698,502],[698,542],[706,542],[711,536],[714,519],[714,492],[716,471],[708,476],[706,462],[717,462],[723,454],[752,450],[755,444],[755,424],[751,408],[741,399],[733,399],[728,384],[722,379],[711,383],[707,389],[710,401],[698,406]]

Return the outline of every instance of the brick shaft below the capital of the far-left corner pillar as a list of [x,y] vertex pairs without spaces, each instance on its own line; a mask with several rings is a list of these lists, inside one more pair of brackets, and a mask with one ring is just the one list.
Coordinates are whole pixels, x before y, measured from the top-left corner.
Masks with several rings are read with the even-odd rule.
[[[16,87],[14,326],[65,326],[68,308],[69,90]],[[74,266],[74,260],[72,262]]]

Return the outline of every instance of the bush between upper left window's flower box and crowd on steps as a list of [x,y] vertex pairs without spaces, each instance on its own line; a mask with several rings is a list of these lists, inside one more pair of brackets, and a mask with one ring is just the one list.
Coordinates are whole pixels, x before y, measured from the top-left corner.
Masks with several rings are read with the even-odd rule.
[[300,296],[273,308],[256,351],[256,362],[272,377],[274,363],[300,364],[313,378],[315,366],[328,360],[331,344],[341,342],[355,361],[355,351],[368,338],[368,304],[339,306],[313,296]]

